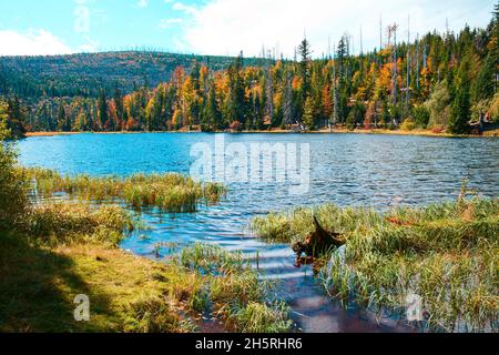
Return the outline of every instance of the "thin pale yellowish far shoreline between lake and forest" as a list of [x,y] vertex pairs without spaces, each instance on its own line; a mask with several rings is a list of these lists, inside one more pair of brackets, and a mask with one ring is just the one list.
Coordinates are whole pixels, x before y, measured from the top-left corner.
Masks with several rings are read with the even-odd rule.
[[[152,132],[28,132],[26,133],[26,138],[37,138],[37,136],[60,136],[60,135],[78,135],[78,134],[145,134],[145,133],[203,133],[201,131],[152,131]],[[349,131],[346,129],[336,129],[329,131],[328,129],[312,131],[312,132],[293,132],[289,130],[259,130],[259,131],[241,131],[241,132],[226,132],[226,131],[216,131],[216,132],[205,132],[205,133],[228,133],[228,134],[379,134],[379,135],[406,135],[406,136],[434,136],[434,138],[499,138],[499,129],[490,130],[483,132],[483,134],[451,134],[451,133],[435,133],[431,130],[414,130],[414,131],[391,131],[385,129],[378,130],[354,130]]]

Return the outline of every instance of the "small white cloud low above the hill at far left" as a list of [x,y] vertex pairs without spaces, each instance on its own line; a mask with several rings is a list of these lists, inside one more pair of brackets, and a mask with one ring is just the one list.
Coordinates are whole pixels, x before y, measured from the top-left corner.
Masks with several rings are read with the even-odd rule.
[[0,30],[0,55],[52,55],[73,53],[61,39],[39,29],[26,33]]

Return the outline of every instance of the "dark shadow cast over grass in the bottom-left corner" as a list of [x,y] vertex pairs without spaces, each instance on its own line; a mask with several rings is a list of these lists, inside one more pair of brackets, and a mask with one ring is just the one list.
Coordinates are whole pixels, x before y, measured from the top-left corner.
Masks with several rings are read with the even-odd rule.
[[104,324],[74,321],[74,296],[91,297],[92,313],[113,316],[106,295],[92,293],[73,261],[26,236],[0,231],[0,332],[105,332]]

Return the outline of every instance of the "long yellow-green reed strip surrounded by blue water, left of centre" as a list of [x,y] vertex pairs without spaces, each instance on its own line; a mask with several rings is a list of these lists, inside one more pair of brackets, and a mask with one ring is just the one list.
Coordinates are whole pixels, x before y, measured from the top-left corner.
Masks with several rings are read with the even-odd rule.
[[198,203],[218,202],[226,193],[225,187],[220,184],[203,184],[180,174],[136,174],[121,179],[63,176],[39,168],[22,171],[34,182],[34,193],[42,197],[63,193],[95,202],[122,200],[135,209],[155,206],[174,213],[195,212]]

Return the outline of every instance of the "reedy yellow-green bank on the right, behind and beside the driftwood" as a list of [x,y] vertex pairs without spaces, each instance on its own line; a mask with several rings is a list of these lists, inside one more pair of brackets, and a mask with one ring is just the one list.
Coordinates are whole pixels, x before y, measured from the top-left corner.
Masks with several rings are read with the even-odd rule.
[[252,222],[269,241],[303,242],[313,215],[347,240],[323,270],[332,297],[405,316],[406,297],[422,297],[427,331],[497,331],[499,202],[465,200],[421,209],[324,205]]

